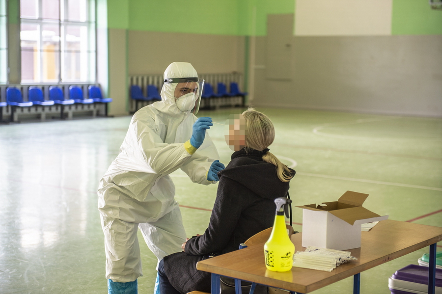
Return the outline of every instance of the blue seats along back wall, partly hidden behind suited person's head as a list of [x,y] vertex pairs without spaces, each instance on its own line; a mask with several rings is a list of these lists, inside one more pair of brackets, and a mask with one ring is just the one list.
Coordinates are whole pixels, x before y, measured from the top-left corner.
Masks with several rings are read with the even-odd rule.
[[[155,101],[161,101],[161,96],[158,93],[158,88],[156,85],[153,85],[153,84],[147,85],[146,90],[147,90],[146,91],[147,96],[144,96],[140,86],[138,86],[136,84],[131,85],[130,94],[131,94],[131,99],[134,100],[136,103],[135,111],[137,111],[140,108],[139,104],[143,104],[144,102],[148,102],[149,104],[151,104]],[[201,98],[203,98],[201,108],[213,108],[213,107],[211,107],[212,104],[214,105],[215,108],[218,108],[221,105],[222,106],[224,105],[223,103],[221,103],[221,101],[219,101],[219,99],[216,103],[210,103],[210,101],[208,99],[211,99],[211,100],[213,100],[213,98],[225,99],[225,98],[230,98],[230,97],[242,97],[242,102],[240,102],[240,103],[241,103],[241,106],[244,106],[246,95],[247,95],[246,92],[240,91],[237,82],[230,83],[230,92],[227,91],[227,86],[225,83],[223,83],[223,82],[217,83],[217,92],[216,93],[214,91],[212,84],[209,82],[205,82],[203,92],[201,94]],[[234,106],[236,104],[236,102],[233,102],[231,104],[232,104],[232,106]]]

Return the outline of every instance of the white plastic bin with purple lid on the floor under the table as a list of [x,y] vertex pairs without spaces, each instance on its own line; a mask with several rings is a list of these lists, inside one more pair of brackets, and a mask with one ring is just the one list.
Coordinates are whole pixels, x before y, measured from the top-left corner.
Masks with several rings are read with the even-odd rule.
[[[391,294],[428,293],[428,267],[409,265],[388,280]],[[438,289],[439,288],[439,289]],[[442,293],[442,269],[436,268],[436,293]]]

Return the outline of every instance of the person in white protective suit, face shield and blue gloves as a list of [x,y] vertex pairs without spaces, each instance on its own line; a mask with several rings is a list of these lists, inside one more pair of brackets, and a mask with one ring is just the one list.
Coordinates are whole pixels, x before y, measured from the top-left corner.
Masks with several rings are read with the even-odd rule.
[[194,115],[204,80],[186,62],[171,63],[164,79],[162,101],[134,114],[119,155],[100,180],[110,294],[138,293],[138,228],[158,261],[182,251],[186,233],[169,174],[181,168],[194,183],[209,185],[224,168],[206,133],[212,119]]

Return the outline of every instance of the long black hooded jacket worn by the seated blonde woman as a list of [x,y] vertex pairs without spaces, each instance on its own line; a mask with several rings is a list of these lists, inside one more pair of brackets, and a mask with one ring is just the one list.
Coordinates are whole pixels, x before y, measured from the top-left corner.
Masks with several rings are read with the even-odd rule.
[[243,148],[218,173],[209,227],[186,242],[185,252],[164,258],[167,278],[176,290],[210,292],[210,273],[196,270],[196,263],[211,254],[238,250],[240,243],[273,226],[275,199],[287,196],[289,183],[279,180],[275,165],[262,160],[264,153]]

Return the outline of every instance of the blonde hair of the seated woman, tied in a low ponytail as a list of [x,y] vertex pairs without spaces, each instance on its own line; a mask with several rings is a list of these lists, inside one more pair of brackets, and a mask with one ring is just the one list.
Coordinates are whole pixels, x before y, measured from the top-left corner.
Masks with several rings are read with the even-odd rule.
[[[248,130],[246,147],[264,151],[275,139],[275,128],[272,121],[267,115],[256,111],[253,107],[249,107],[249,109],[242,114],[246,120]],[[276,166],[276,173],[282,182],[288,182],[293,177],[287,165],[279,161],[276,156],[269,151],[262,156],[262,160]]]

